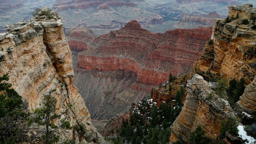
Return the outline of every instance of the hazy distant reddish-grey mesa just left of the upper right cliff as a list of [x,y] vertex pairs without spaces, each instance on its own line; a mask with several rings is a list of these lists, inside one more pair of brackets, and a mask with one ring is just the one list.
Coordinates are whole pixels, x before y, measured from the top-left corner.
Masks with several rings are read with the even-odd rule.
[[174,28],[197,28],[212,27],[216,19],[221,19],[221,16],[215,12],[211,12],[205,16],[195,14],[183,14],[180,21],[175,24]]

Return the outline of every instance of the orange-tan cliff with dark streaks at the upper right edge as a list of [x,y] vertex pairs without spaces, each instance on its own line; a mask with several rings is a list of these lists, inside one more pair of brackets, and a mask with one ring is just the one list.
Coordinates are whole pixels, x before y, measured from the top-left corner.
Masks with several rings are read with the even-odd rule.
[[[220,73],[226,79],[240,80],[244,77],[247,84],[251,83],[256,73],[255,67],[255,30],[251,29],[251,14],[255,8],[249,5],[230,6],[229,18],[239,18],[225,24],[225,20],[216,20],[213,31],[213,43],[207,43],[203,54],[198,61],[198,69]],[[242,25],[247,19],[249,25]]]

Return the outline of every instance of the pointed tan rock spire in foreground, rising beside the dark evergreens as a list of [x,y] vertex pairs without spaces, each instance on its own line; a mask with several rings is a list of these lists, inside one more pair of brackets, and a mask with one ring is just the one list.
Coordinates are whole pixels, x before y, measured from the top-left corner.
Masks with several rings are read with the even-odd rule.
[[188,80],[186,90],[182,111],[171,126],[170,142],[181,140],[188,143],[190,133],[198,125],[207,137],[216,139],[220,135],[220,121],[235,116],[228,101],[219,98],[212,85],[199,75]]

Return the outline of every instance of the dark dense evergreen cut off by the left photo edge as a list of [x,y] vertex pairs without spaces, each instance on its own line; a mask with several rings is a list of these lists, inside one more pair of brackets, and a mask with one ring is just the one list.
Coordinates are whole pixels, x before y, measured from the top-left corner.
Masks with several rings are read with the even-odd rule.
[[28,133],[30,114],[21,96],[11,88],[12,84],[4,82],[8,80],[8,74],[0,76],[0,143],[14,144]]

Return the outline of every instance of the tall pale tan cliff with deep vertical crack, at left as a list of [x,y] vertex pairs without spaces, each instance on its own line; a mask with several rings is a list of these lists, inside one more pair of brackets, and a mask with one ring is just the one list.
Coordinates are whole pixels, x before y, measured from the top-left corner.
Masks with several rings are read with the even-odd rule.
[[[73,64],[68,42],[62,30],[62,20],[56,12],[52,19],[40,15],[28,21],[7,25],[8,33],[0,34],[0,75],[8,73],[12,87],[28,101],[29,108],[40,107],[44,95],[56,89],[57,108],[63,110],[71,103],[70,123],[80,125],[85,134],[75,129],[62,131],[61,141],[74,139],[77,143],[104,143],[103,137],[91,123],[90,114],[73,82]],[[58,124],[58,121],[56,122]]]

